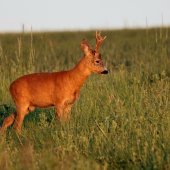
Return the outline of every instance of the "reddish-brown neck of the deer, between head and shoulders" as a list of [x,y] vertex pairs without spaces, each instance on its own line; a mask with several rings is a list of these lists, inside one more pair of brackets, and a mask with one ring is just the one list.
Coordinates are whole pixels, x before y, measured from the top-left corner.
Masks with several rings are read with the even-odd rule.
[[91,71],[85,63],[85,56],[79,61],[79,63],[70,70],[70,77],[75,87],[80,88],[87,78],[91,75]]

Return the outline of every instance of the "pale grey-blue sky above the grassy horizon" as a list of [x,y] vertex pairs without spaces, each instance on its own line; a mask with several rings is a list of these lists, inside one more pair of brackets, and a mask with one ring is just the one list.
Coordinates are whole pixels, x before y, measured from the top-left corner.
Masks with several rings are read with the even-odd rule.
[[0,32],[169,26],[169,9],[169,0],[6,0]]

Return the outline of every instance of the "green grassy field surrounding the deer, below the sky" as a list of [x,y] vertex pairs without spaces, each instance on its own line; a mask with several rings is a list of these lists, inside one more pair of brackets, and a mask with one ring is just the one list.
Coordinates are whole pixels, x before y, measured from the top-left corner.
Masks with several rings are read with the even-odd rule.
[[[92,74],[69,122],[55,109],[29,113],[19,136],[0,136],[3,170],[170,169],[170,28],[102,31],[107,76]],[[0,126],[15,110],[10,84],[73,68],[95,31],[0,34]]]

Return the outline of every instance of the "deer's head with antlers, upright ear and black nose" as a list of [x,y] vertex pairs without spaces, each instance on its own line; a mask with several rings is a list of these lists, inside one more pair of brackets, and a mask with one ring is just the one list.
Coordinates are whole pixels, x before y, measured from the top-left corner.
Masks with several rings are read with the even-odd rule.
[[102,41],[106,38],[106,36],[104,38],[101,38],[100,34],[101,31],[99,34],[97,34],[97,31],[96,34],[94,34],[96,38],[95,50],[92,49],[92,47],[90,46],[86,39],[83,39],[83,41],[81,42],[81,49],[85,54],[84,57],[86,66],[89,68],[91,72],[97,74],[107,74],[108,71],[106,67],[103,65],[101,54],[99,53],[100,45]]

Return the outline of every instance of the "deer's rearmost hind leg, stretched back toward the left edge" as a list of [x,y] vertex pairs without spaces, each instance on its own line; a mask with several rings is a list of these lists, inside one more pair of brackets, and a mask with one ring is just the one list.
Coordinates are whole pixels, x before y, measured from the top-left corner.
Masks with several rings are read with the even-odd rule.
[[16,115],[17,115],[17,112],[15,111],[10,116],[5,118],[2,128],[1,128],[2,133],[4,133],[4,131],[14,122]]

